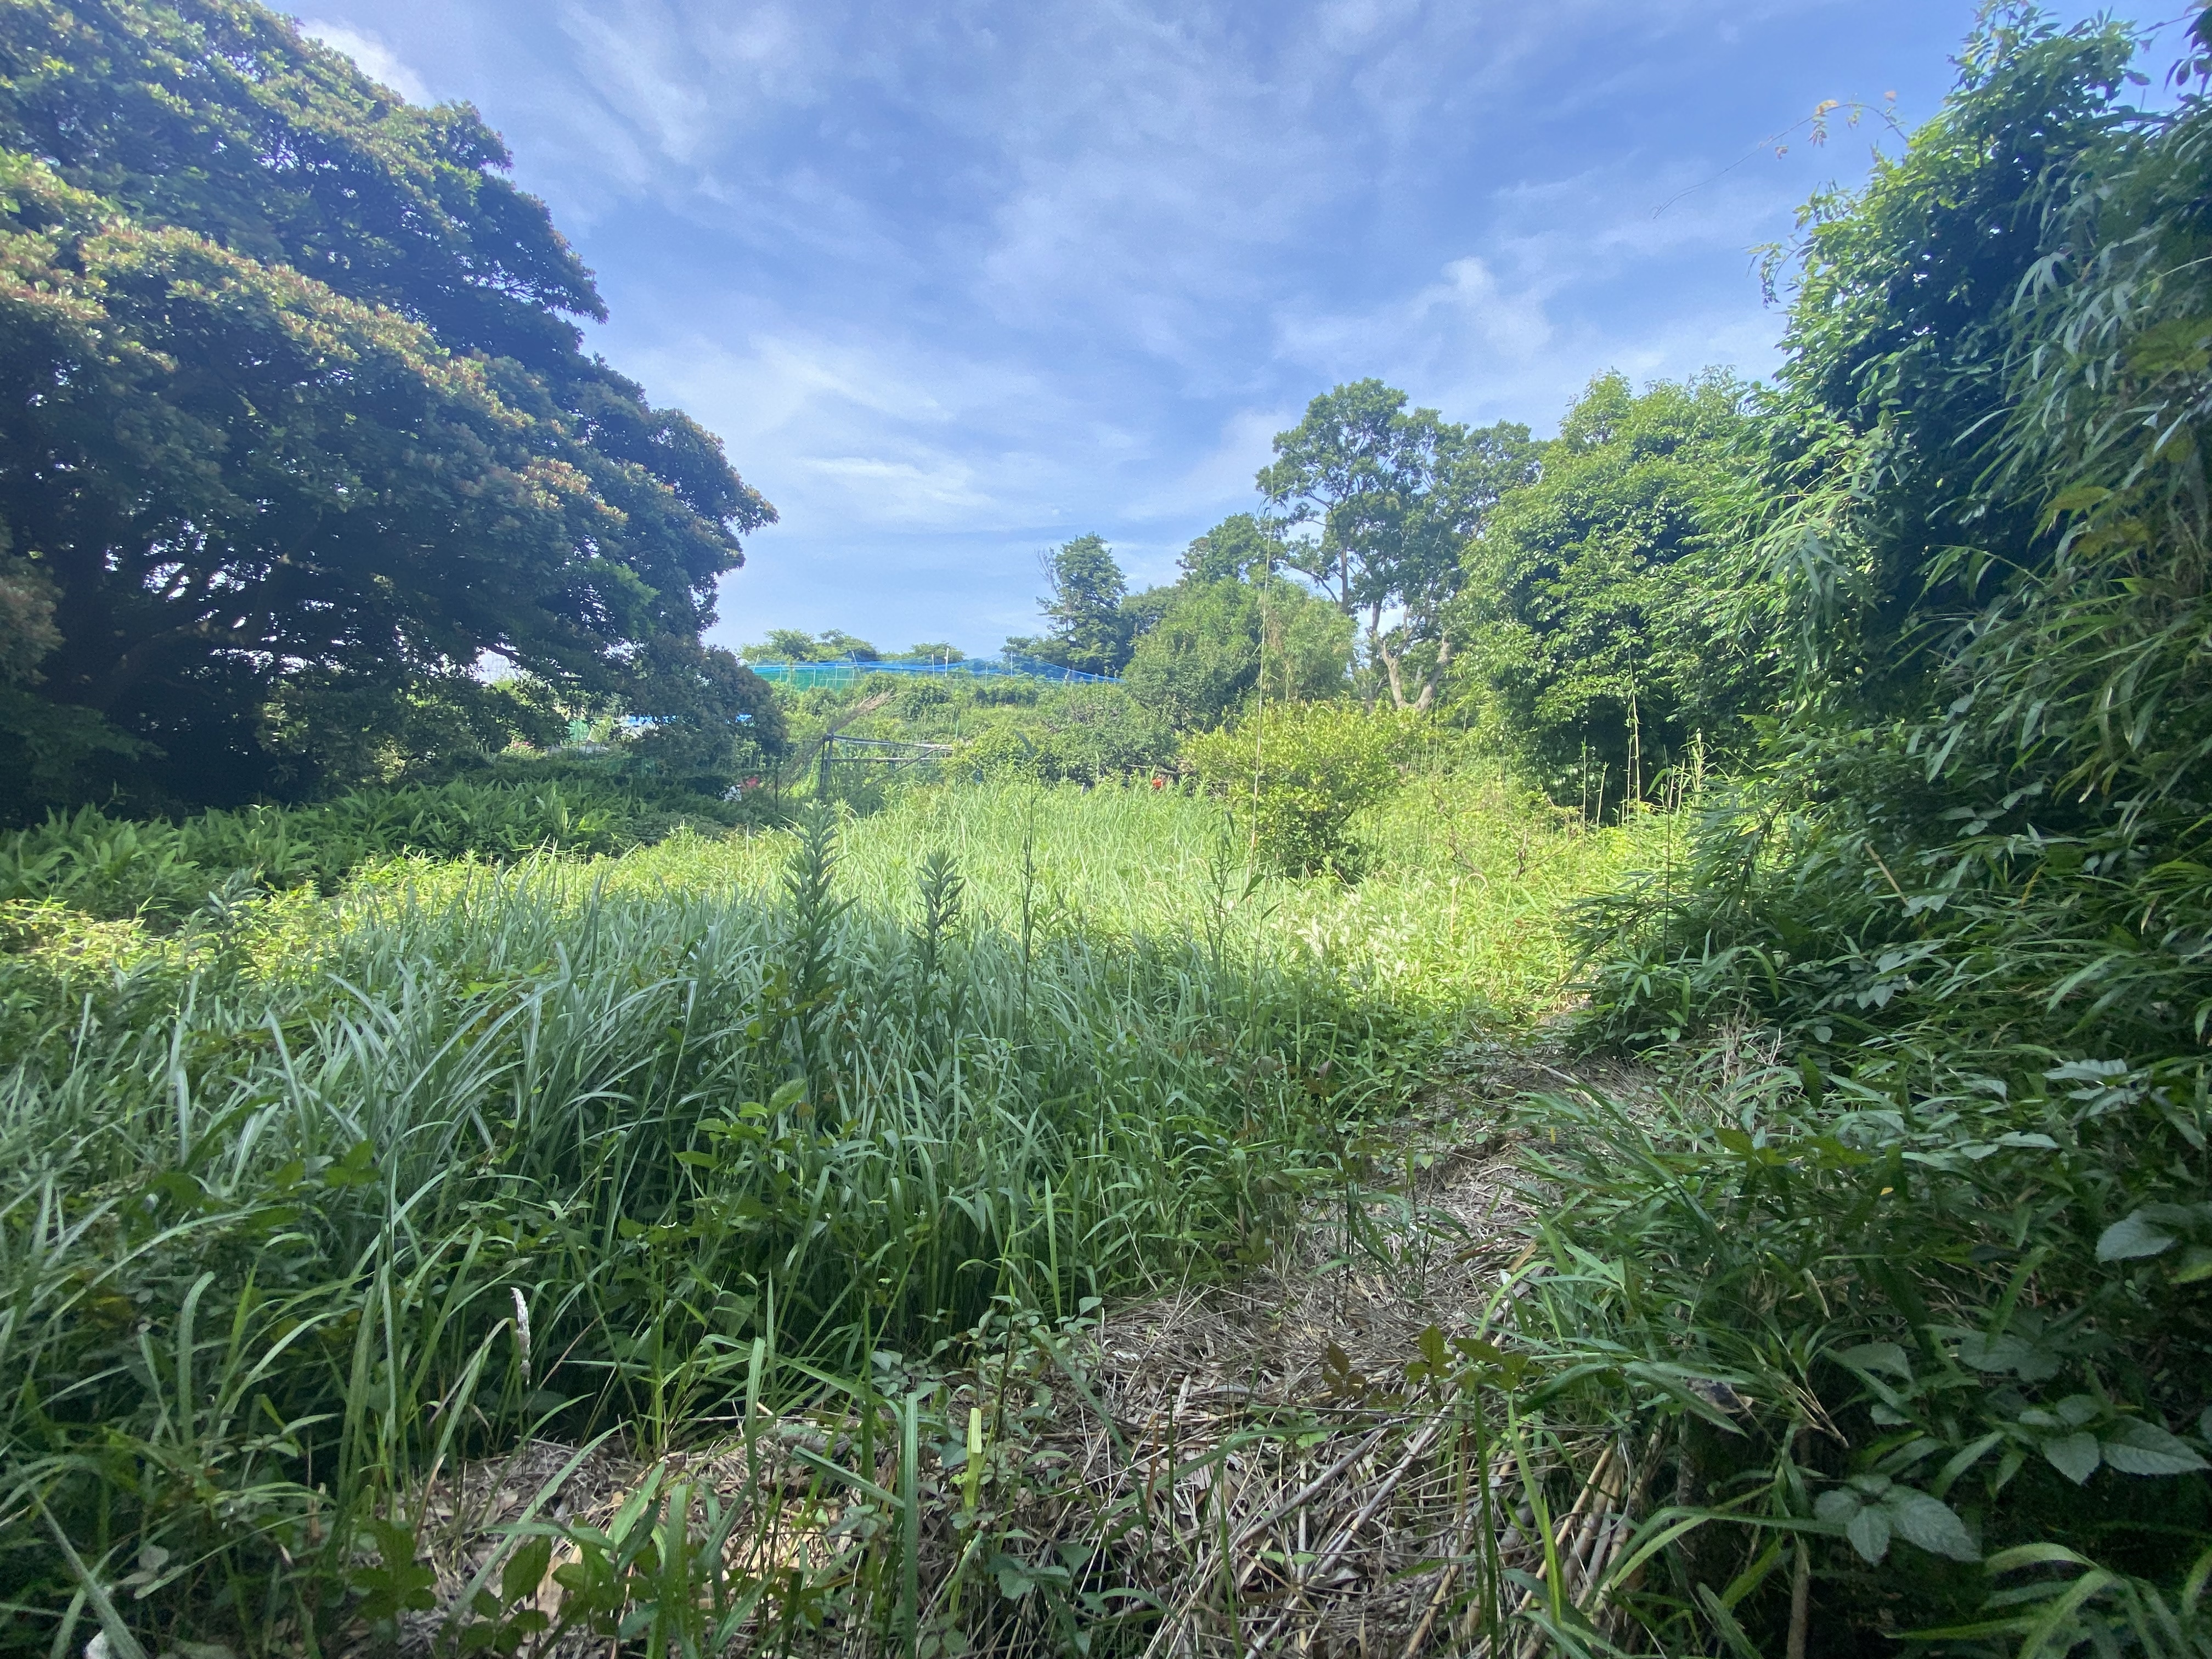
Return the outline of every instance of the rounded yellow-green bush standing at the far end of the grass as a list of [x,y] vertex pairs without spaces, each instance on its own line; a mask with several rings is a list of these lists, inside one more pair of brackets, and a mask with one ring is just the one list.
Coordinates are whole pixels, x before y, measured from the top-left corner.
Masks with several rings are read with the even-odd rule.
[[1394,783],[1413,730],[1356,703],[1294,703],[1183,743],[1210,792],[1248,814],[1256,852],[1294,874],[1356,874],[1352,818]]

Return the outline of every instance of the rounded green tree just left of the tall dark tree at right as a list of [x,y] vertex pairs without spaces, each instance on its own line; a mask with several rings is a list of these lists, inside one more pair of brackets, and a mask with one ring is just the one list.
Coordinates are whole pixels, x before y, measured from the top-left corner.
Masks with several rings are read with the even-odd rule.
[[[1641,799],[1703,732],[1772,706],[1756,653],[1708,624],[1712,502],[1743,469],[1743,387],[1590,383],[1542,478],[1467,549],[1453,628],[1484,719],[1562,801]],[[1761,695],[1765,692],[1765,695]]]

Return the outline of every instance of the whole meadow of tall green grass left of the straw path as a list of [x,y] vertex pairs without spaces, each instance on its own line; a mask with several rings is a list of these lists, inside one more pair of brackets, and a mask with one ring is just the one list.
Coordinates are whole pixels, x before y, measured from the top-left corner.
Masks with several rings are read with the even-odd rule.
[[[1360,1210],[1371,1126],[1478,993],[1557,998],[1557,900],[1644,834],[1433,776],[1343,889],[1254,878],[1214,803],[1009,785],[164,936],[18,914],[7,1641],[396,1632],[469,1531],[440,1471],[542,1442],[644,1484],[445,1584],[480,1646],[1157,1628],[1022,1542],[989,1447],[1082,1396],[1102,1301]],[[732,1436],[750,1484],[664,1462]]]

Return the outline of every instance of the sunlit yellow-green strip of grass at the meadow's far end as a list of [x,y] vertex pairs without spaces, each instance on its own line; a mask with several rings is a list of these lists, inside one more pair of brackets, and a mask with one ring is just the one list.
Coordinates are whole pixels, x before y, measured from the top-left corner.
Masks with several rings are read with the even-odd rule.
[[[1575,960],[1564,909],[1648,863],[1666,836],[1659,818],[1584,832],[1517,790],[1438,770],[1363,814],[1369,880],[1276,880],[1248,869],[1245,825],[1221,801],[1144,781],[949,785],[854,821],[841,891],[860,909],[909,907],[925,860],[945,849],[971,914],[1009,933],[1201,938],[1245,960],[1303,962],[1396,1009],[1526,1024],[1564,1004]],[[575,869],[608,894],[737,900],[774,887],[790,847],[776,832],[677,836]],[[460,880],[465,869],[396,865],[376,887]]]

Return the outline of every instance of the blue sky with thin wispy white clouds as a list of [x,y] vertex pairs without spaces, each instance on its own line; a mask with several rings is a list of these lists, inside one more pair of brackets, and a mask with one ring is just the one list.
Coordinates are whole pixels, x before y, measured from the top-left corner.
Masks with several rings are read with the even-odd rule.
[[1747,250],[1860,177],[1871,128],[1759,142],[1829,97],[1924,119],[1973,9],[312,0],[303,27],[507,135],[599,276],[593,347],[776,504],[719,641],[993,650],[1035,626],[1040,549],[1099,531],[1170,575],[1338,380],[1546,431],[1606,369],[1767,369]]

